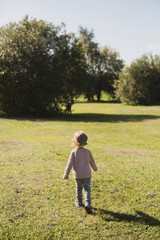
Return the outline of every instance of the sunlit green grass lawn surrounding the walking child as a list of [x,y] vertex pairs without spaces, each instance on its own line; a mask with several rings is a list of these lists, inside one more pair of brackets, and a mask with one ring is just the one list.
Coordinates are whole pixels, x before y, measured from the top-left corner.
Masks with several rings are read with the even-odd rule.
[[[99,167],[93,215],[62,179],[77,130]],[[160,239],[160,107],[77,103],[59,119],[0,118],[0,239]]]

